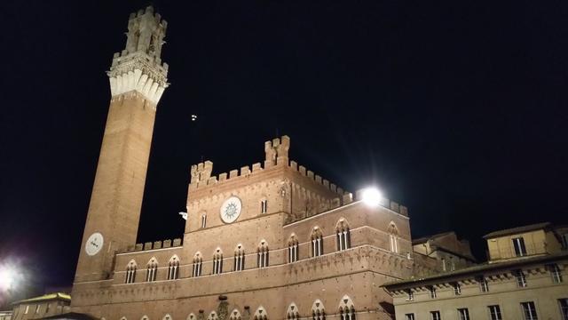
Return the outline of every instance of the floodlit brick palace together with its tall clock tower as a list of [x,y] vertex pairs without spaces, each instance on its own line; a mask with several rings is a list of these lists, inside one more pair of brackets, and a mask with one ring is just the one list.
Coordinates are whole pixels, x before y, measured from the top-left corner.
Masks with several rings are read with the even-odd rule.
[[[154,117],[168,86],[167,24],[130,15],[108,76],[112,98],[75,273],[72,311],[105,319],[387,319],[382,284],[413,274],[406,207],[368,205],[288,158],[213,175],[191,167],[185,234],[136,244]],[[468,248],[469,252],[469,248]],[[422,272],[439,270],[420,258]]]

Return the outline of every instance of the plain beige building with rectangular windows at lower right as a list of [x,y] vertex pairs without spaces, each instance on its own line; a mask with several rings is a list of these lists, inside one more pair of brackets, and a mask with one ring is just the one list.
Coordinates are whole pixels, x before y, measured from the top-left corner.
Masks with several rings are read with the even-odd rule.
[[384,287],[397,319],[568,319],[565,236],[550,223],[496,231],[486,263]]

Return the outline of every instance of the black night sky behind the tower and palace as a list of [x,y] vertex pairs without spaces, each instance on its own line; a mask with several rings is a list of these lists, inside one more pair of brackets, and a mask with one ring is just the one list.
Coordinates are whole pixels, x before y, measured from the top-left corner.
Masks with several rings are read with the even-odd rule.
[[[568,2],[0,4],[0,260],[70,285],[130,12],[168,20],[138,242],[183,235],[189,167],[290,157],[409,208],[413,237],[566,223]],[[5,7],[4,7],[5,6]],[[191,115],[196,114],[196,122]]]

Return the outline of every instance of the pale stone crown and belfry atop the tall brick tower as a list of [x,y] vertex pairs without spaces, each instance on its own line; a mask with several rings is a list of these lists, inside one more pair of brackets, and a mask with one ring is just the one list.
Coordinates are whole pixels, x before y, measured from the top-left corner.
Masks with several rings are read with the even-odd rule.
[[130,13],[125,48],[114,53],[107,72],[113,97],[137,91],[155,108],[169,85],[169,67],[161,58],[167,27],[168,22],[152,6]]

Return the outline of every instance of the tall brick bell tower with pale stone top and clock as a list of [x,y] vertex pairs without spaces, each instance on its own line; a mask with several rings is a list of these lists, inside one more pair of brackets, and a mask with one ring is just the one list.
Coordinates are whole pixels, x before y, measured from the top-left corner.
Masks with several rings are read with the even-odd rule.
[[107,279],[114,252],[136,244],[156,106],[168,86],[166,27],[152,7],[131,13],[126,47],[107,72],[112,97],[75,284]]

